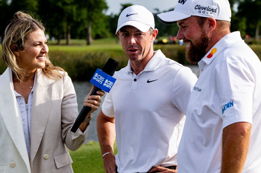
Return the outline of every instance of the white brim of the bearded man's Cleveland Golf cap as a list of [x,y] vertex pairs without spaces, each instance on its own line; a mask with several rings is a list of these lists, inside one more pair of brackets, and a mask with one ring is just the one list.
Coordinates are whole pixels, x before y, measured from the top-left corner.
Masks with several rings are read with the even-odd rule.
[[168,11],[165,13],[157,14],[158,19],[165,24],[177,23],[179,20],[186,19],[191,15],[179,12],[179,11]]

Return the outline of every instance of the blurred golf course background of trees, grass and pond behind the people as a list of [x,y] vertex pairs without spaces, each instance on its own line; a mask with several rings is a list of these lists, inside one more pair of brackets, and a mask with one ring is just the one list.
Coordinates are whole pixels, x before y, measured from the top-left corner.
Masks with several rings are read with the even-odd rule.
[[[156,16],[174,10],[177,1],[0,0],[0,42],[7,23],[13,19],[15,12],[25,11],[40,20],[46,28],[50,60],[67,71],[72,78],[80,111],[83,100],[92,87],[89,80],[97,68],[102,69],[108,58],[120,63],[118,69],[127,65],[128,58],[115,32],[120,12],[131,5],[143,5],[153,13],[155,28],[159,31],[154,50],[161,49],[166,57],[188,66],[199,75],[198,66],[189,64],[185,59],[187,46],[176,39],[179,30],[177,24],[163,24]],[[232,10],[231,31],[240,31],[242,39],[261,58],[261,0],[229,0],[229,3]],[[1,59],[0,74],[6,68]],[[85,142],[88,144],[75,152],[70,151],[74,172],[104,172],[96,132],[99,110],[93,114]],[[116,154],[116,144],[115,150]]]

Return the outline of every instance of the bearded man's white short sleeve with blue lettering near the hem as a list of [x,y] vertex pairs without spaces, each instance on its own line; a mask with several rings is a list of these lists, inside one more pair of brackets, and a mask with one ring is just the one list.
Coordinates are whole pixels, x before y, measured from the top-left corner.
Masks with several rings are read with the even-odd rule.
[[236,122],[252,124],[254,77],[244,63],[223,61],[215,69],[223,128]]

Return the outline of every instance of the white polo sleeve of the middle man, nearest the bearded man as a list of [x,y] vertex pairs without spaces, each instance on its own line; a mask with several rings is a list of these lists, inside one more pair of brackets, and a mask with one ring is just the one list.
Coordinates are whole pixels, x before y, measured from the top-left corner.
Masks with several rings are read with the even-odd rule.
[[197,80],[197,76],[188,67],[179,69],[175,76],[172,101],[175,107],[185,115],[191,91]]

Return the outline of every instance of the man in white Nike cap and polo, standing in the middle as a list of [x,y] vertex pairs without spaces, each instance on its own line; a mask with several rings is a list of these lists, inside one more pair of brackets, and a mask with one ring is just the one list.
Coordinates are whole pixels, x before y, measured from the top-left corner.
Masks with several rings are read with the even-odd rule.
[[117,81],[97,117],[109,173],[144,173],[157,165],[176,169],[184,114],[197,77],[161,50],[153,50],[158,33],[154,27],[152,13],[139,5],[124,9],[118,20],[116,34],[129,62],[115,72]]

